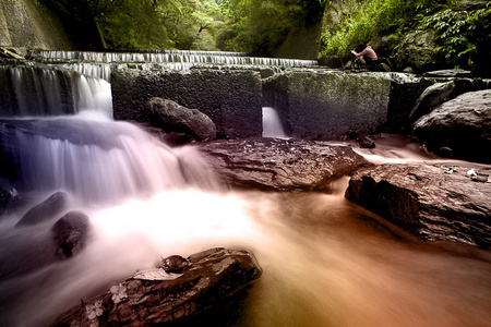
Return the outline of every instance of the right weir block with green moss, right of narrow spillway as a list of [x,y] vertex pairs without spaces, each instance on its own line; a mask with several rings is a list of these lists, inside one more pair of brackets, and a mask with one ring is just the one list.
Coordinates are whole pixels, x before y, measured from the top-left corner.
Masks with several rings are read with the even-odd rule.
[[370,134],[387,117],[391,81],[383,75],[297,71],[263,86],[264,105],[275,108],[288,135],[339,140]]

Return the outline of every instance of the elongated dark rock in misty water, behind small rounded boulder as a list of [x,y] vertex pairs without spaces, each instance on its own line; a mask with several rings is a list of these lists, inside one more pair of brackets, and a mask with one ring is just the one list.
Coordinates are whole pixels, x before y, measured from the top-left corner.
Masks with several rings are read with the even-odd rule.
[[15,227],[36,225],[55,219],[67,208],[67,205],[68,194],[64,192],[57,192],[40,204],[31,208],[21,220],[19,220]]

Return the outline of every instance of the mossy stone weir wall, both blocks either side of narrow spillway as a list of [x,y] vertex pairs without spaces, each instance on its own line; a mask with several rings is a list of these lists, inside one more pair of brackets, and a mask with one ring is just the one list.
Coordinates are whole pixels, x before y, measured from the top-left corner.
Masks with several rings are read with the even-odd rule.
[[[175,71],[158,64],[151,70],[122,64],[111,70],[113,114],[151,122],[145,104],[159,97],[207,114],[217,137],[238,138],[261,136],[262,107],[274,107],[294,137],[340,140],[381,131],[393,120],[391,97],[397,76],[290,69],[264,77],[261,69],[246,66]],[[407,83],[420,85],[420,78]],[[411,108],[406,107],[403,116]]]

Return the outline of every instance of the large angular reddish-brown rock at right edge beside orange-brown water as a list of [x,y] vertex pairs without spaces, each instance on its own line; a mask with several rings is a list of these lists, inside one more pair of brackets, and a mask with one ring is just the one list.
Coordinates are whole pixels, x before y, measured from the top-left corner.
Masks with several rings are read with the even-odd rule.
[[491,246],[491,167],[382,165],[361,170],[346,197],[424,241]]

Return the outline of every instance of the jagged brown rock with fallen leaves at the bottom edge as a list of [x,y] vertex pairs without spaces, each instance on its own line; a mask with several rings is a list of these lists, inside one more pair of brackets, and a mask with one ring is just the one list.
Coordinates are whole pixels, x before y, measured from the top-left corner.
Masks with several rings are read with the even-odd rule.
[[[137,272],[109,291],[84,301],[52,326],[154,326],[181,322],[227,299],[262,269],[246,251],[211,249],[191,255],[180,274],[163,269]],[[148,278],[148,279],[141,279]]]

